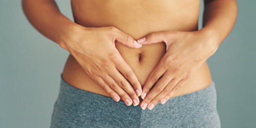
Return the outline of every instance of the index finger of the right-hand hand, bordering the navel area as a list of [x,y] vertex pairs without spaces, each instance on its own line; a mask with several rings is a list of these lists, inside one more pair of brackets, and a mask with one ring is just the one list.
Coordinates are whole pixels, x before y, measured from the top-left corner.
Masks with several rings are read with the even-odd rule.
[[150,91],[152,86],[156,83],[156,81],[165,73],[166,69],[163,68],[163,64],[160,61],[156,68],[150,73],[150,76],[145,82],[145,85],[142,89],[141,98],[144,99],[147,93]]

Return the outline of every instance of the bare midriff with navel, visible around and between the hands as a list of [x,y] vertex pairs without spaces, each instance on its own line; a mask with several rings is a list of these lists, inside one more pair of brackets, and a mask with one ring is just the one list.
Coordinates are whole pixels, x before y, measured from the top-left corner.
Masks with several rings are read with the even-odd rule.
[[[195,31],[198,27],[200,0],[72,0],[71,4],[77,24],[85,27],[115,26],[136,40],[152,32]],[[115,46],[141,85],[145,84],[166,52],[163,42],[143,45],[139,49],[128,48],[119,42]],[[63,79],[79,89],[109,96],[83,71],[72,55],[65,64]],[[173,97],[204,89],[211,81],[205,62]]]

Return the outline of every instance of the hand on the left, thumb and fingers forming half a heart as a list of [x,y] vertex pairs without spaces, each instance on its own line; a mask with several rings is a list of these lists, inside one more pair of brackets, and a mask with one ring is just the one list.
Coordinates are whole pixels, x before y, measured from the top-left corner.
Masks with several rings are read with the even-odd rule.
[[115,48],[115,41],[130,48],[140,48],[140,43],[113,26],[86,28],[78,25],[66,35],[59,43],[61,48],[72,54],[84,71],[116,102],[121,98],[128,106],[139,104],[140,82]]

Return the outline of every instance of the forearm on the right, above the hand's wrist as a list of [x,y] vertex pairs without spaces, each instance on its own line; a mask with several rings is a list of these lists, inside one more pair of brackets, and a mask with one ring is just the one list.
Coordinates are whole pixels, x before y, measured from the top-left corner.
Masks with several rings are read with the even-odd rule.
[[[203,33],[208,33],[211,46],[219,47],[232,30],[237,16],[236,0],[205,0]],[[214,51],[215,52],[215,51]]]

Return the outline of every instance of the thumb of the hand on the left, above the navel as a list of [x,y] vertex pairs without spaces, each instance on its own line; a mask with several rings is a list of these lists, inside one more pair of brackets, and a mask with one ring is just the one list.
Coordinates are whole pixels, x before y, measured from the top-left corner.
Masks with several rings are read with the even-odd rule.
[[117,29],[115,30],[117,33],[115,34],[116,38],[115,40],[124,44],[125,46],[128,46],[130,48],[140,48],[142,45],[138,43],[135,39],[132,38],[132,36],[128,35],[127,33],[122,32],[121,30]]

